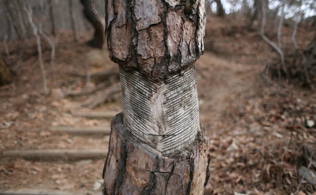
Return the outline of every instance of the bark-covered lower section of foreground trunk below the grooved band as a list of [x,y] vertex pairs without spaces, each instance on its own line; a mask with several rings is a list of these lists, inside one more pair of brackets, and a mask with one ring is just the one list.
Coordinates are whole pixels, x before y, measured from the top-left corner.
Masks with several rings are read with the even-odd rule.
[[203,194],[209,178],[208,141],[198,132],[188,147],[163,155],[141,142],[118,114],[111,123],[103,194]]

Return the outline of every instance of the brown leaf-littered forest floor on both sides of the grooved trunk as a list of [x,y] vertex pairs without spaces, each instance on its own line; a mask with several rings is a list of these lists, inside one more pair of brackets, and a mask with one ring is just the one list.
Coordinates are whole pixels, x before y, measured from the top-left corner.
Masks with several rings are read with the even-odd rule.
[[[284,34],[290,31],[285,28]],[[285,37],[286,46],[290,43],[289,36]],[[297,37],[304,48],[313,31],[301,30]],[[106,128],[109,119],[72,114],[122,110],[119,95],[93,110],[83,106],[100,97],[102,90],[63,97],[69,89],[83,88],[86,65],[91,74],[117,67],[109,60],[107,49],[92,49],[84,44],[87,39],[85,34],[82,42],[74,43],[69,33],[58,35],[55,86],[49,97],[42,93],[35,41],[9,43],[16,79],[0,87],[0,151],[108,148],[108,135],[49,130],[54,126]],[[49,75],[49,46],[43,45]],[[208,18],[205,48],[196,62],[200,119],[212,155],[205,194],[315,193],[316,186],[302,180],[298,170],[314,162],[306,151],[316,151],[316,127],[310,125],[316,121],[316,93],[297,85],[270,85],[262,70],[276,63],[277,55],[256,31],[233,25],[229,18]],[[96,85],[92,81],[89,88]],[[0,193],[36,188],[100,194],[104,161],[1,157]]]

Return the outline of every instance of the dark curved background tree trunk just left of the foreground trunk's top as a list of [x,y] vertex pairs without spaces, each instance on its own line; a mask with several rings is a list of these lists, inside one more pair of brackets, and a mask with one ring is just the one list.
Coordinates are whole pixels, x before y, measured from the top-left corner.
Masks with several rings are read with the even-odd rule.
[[92,47],[102,48],[104,43],[104,18],[97,11],[96,6],[92,0],[81,0],[82,5],[84,6],[84,14],[89,22],[94,27],[94,36],[88,44]]

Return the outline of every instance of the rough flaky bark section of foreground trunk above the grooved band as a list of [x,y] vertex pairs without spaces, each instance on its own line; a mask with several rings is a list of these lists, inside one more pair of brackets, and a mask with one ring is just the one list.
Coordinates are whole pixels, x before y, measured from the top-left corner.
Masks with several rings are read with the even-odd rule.
[[162,80],[203,53],[203,0],[109,0],[106,10],[110,58],[124,69]]

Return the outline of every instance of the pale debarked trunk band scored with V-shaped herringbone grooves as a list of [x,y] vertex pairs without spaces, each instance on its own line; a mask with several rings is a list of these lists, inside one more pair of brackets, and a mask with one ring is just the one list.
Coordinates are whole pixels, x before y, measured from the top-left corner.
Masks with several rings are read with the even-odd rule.
[[131,134],[164,154],[194,142],[200,125],[194,69],[154,82],[121,68],[120,78]]

